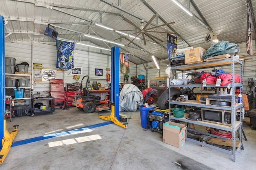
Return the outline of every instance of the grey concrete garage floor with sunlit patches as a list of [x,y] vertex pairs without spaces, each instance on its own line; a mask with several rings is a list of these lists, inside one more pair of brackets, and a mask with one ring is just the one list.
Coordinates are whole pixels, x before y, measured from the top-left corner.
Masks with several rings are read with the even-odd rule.
[[[101,111],[110,115],[110,111]],[[97,113],[84,113],[76,107],[56,109],[55,113],[7,119],[7,130],[18,124],[18,141],[56,133],[50,139],[36,141],[10,149],[1,170],[241,170],[256,166],[256,130],[250,118],[243,122],[248,141],[244,150],[232,155],[186,141],[178,149],[162,142],[162,134],[141,127],[140,111],[122,112],[128,117],[128,128],[115,124],[94,128],[73,129],[108,123]],[[204,128],[205,129],[205,128]],[[60,136],[61,131],[69,131]],[[243,137],[244,139],[244,137]],[[178,162],[181,166],[174,162]]]

